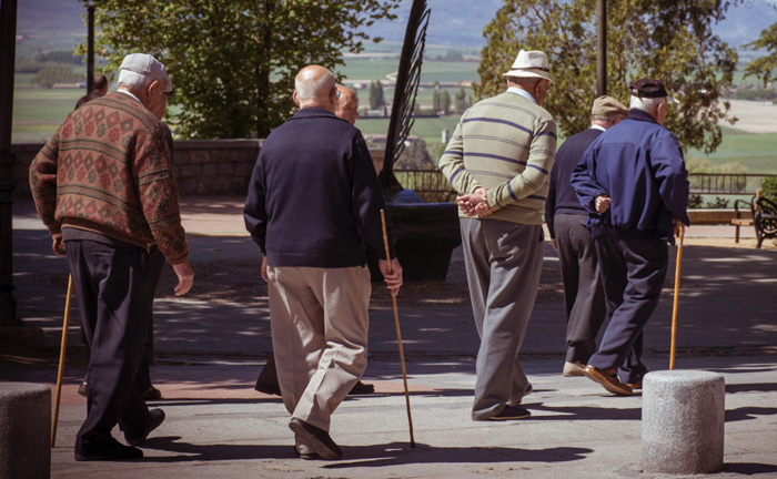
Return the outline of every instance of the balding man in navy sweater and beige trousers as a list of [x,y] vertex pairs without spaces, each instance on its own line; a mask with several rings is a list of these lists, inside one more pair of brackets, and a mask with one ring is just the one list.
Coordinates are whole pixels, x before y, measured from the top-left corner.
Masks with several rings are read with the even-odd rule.
[[[334,114],[337,96],[325,68],[297,73],[300,110],[264,142],[244,210],[263,255],[289,427],[305,459],[342,458],[329,435],[331,416],[367,360],[371,283],[362,238],[385,251],[383,192],[361,132]],[[398,292],[402,268],[389,220],[392,258],[381,257],[380,268]]]

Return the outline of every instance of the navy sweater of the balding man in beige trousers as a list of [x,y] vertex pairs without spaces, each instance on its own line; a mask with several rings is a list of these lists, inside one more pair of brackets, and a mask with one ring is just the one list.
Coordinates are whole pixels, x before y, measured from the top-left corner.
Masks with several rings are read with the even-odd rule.
[[302,109],[275,129],[254,166],[243,217],[270,266],[339,268],[385,259],[383,191],[361,132],[329,110]]

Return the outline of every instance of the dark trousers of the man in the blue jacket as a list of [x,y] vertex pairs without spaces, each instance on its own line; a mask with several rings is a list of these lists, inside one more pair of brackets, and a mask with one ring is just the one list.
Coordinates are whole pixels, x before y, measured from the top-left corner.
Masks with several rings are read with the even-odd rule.
[[622,381],[638,383],[647,374],[640,360],[642,332],[658,306],[669,251],[666,242],[635,230],[598,225],[591,233],[609,324],[588,364],[601,369],[617,367]]

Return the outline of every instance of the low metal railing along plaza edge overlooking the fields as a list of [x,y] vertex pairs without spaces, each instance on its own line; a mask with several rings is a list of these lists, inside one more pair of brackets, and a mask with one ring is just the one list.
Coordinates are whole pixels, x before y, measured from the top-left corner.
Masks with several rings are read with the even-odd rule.
[[[456,192],[440,170],[394,170],[400,183],[427,203],[454,202]],[[690,193],[753,196],[761,180],[777,174],[690,173]]]

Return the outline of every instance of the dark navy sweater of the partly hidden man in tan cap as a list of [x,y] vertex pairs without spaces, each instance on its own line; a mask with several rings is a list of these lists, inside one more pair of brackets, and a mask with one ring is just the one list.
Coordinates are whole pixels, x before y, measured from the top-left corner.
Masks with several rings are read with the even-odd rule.
[[545,223],[552,238],[556,237],[554,218],[557,214],[588,216],[588,212],[581,205],[569,183],[572,172],[583,153],[602,133],[604,133],[602,130],[593,128],[582,131],[566,139],[556,153],[556,162],[551,171],[551,190],[545,202]]

